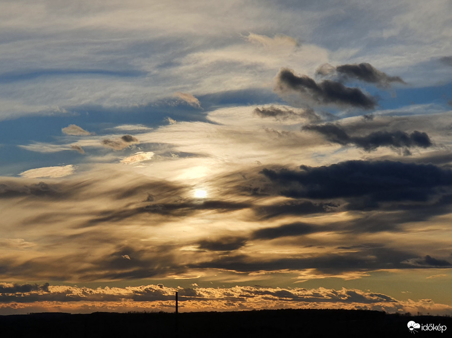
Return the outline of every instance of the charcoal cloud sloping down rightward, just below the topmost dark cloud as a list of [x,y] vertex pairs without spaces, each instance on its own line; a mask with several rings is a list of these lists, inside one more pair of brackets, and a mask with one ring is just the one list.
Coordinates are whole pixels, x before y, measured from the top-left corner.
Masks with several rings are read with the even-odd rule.
[[324,80],[316,83],[306,75],[296,76],[291,69],[283,68],[277,75],[277,89],[283,93],[295,91],[317,104],[335,104],[371,109],[376,100],[358,88],[346,87],[340,82]]

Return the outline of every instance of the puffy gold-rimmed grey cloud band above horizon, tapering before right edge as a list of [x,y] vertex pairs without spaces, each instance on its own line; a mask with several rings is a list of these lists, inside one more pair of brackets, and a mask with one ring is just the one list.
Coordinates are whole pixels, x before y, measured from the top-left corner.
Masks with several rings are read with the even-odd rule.
[[[168,301],[173,303],[174,291],[178,292],[178,300],[182,307],[191,306],[195,308],[202,302],[214,302],[217,309],[227,310],[223,308],[222,302],[227,301],[230,306],[229,310],[238,306],[240,302],[246,302],[251,308],[277,307],[287,302],[294,302],[292,306],[296,307],[305,302],[306,305],[317,303],[329,303],[331,305],[340,304],[384,304],[399,303],[398,300],[391,296],[380,293],[364,292],[357,289],[305,289],[305,288],[270,288],[270,287],[251,287],[251,286],[235,286],[232,288],[168,288],[163,284],[158,285],[142,285],[128,287],[105,287],[105,288],[87,288],[77,286],[56,285],[51,286],[48,283],[44,285],[31,284],[6,284],[0,286],[5,292],[0,296],[0,303],[35,303],[35,305],[46,304],[49,301],[57,301],[66,303],[67,306],[71,302],[94,303],[114,302],[114,301],[133,301],[148,302],[152,306],[152,302]],[[187,303],[187,305],[184,305]],[[158,303],[163,305],[162,303]],[[260,306],[259,306],[260,304]],[[114,304],[112,304],[114,305]],[[169,305],[169,304],[168,304]],[[133,304],[127,304],[133,307]]]

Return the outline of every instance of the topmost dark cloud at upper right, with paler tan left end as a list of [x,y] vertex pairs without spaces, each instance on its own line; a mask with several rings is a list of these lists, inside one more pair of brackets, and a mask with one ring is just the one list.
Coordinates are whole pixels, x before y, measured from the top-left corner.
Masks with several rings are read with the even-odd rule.
[[345,79],[356,79],[376,84],[381,87],[389,87],[393,82],[406,84],[399,76],[389,76],[376,69],[370,63],[342,64],[337,67],[334,67],[331,64],[323,64],[316,72],[323,76],[336,75]]

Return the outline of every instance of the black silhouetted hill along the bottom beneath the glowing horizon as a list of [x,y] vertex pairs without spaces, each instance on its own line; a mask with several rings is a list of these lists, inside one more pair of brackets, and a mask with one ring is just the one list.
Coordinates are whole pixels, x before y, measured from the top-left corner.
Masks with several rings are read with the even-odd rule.
[[[446,325],[451,317],[389,315],[365,310],[262,310],[191,313],[37,313],[0,316],[1,337],[223,338],[223,337],[406,337],[408,321]],[[176,333],[176,326],[178,333]],[[419,337],[430,337],[428,332]]]

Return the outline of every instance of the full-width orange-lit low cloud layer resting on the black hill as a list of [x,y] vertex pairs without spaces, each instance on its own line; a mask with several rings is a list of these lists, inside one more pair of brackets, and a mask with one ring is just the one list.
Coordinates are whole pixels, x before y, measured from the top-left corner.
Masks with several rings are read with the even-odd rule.
[[[3,291],[3,292],[1,292]],[[12,304],[13,313],[41,312],[55,303],[64,312],[174,311],[174,293],[178,292],[179,311],[231,311],[278,308],[342,308],[384,310],[389,313],[428,311],[451,313],[452,308],[431,299],[403,301],[383,293],[353,288],[271,288],[235,286],[231,288],[175,287],[163,284],[130,287],[87,288],[64,285],[0,285],[0,313]]]

